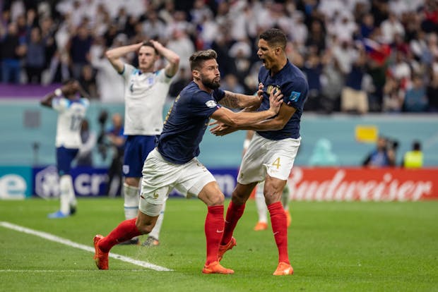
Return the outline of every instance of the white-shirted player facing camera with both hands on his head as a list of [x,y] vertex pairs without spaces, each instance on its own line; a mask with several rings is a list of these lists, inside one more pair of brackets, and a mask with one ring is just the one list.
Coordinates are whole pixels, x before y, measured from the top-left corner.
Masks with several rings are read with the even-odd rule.
[[[138,68],[124,63],[123,57],[136,52]],[[162,130],[162,110],[169,92],[172,77],[179,67],[179,56],[153,39],[137,44],[109,49],[107,59],[124,78],[125,114],[124,135],[124,212],[125,219],[138,214],[138,191],[143,162],[155,147],[155,135]],[[155,63],[162,57],[167,60],[165,68],[155,71]],[[157,226],[143,245],[158,245],[165,205]],[[126,243],[138,243],[133,238]]]

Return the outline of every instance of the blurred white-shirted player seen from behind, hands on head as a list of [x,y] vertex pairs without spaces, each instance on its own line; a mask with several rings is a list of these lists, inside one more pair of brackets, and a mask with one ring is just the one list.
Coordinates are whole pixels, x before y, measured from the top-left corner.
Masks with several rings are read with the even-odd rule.
[[[81,94],[81,95],[79,95]],[[48,215],[49,218],[64,218],[76,213],[76,195],[71,178],[71,164],[82,145],[81,124],[85,118],[90,101],[85,98],[77,80],[67,80],[61,88],[50,92],[40,102],[58,112],[57,135],[57,169],[59,174],[60,209]]]

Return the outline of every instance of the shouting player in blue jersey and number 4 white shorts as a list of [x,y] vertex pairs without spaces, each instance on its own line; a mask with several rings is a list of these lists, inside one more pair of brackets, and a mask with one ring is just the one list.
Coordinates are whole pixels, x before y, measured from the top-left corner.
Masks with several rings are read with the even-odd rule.
[[[285,34],[273,28],[261,33],[257,50],[257,55],[264,64],[259,70],[259,83],[265,97],[277,90],[281,90],[284,95],[278,115],[249,126],[222,122],[211,128],[211,133],[215,135],[226,135],[235,130],[256,131],[242,158],[237,185],[227,209],[219,260],[227,250],[236,245],[232,233],[237,221],[242,217],[245,203],[256,184],[264,181],[264,197],[278,248],[278,266],[274,275],[293,274],[288,255],[288,222],[281,196],[300,147],[300,119],[309,91],[304,74],[288,61],[285,54],[286,44]],[[267,99],[262,99],[258,111],[268,107]]]

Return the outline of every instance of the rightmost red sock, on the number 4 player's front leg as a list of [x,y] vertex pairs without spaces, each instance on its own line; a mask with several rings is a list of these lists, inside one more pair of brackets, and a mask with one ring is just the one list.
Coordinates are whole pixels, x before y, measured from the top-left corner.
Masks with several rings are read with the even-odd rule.
[[281,202],[268,205],[271,225],[278,248],[278,262],[290,264],[288,256],[288,221]]

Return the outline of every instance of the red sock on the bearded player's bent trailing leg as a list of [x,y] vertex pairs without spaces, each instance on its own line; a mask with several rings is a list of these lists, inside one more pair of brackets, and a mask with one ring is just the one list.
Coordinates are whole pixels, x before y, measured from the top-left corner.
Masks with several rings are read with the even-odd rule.
[[136,218],[123,221],[119,226],[113,229],[105,238],[99,241],[99,248],[104,253],[108,253],[109,250],[117,243],[129,241],[135,236],[141,235],[136,226]]

